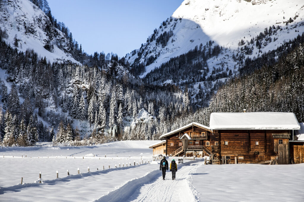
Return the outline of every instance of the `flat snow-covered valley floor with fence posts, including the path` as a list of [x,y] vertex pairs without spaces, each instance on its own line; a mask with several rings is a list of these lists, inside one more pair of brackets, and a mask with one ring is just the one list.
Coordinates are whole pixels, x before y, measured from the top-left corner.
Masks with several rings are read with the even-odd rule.
[[[0,201],[304,200],[304,164],[205,165],[202,159],[184,160],[178,164],[176,180],[171,180],[169,171],[162,180],[159,161],[148,164],[152,160],[148,146],[154,142],[0,147]],[[134,166],[134,161],[138,165]]]

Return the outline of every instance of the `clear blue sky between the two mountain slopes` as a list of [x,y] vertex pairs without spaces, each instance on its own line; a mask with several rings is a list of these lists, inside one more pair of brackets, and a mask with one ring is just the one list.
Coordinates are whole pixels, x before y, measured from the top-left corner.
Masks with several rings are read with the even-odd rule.
[[88,54],[126,53],[140,48],[183,0],[48,0],[52,15],[64,22]]

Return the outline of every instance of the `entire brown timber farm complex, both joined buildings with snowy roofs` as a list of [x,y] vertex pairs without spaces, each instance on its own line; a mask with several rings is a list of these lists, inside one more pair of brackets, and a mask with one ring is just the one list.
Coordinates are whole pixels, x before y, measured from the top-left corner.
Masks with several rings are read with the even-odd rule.
[[293,113],[212,113],[209,125],[193,122],[161,135],[165,154],[207,155],[213,164],[304,161],[304,141],[294,138],[300,125]]

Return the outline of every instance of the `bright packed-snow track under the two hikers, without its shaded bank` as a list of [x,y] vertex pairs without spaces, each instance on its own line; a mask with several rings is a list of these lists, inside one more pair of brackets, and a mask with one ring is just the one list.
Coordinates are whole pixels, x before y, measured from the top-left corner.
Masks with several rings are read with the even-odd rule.
[[[204,164],[204,161],[198,161],[187,166],[181,167],[176,172],[176,179],[172,180],[171,172],[167,172],[165,180],[158,177],[151,184],[146,184],[135,194],[132,201],[197,201],[192,192],[192,184],[189,179],[198,167]],[[137,198],[134,198],[137,196]]]

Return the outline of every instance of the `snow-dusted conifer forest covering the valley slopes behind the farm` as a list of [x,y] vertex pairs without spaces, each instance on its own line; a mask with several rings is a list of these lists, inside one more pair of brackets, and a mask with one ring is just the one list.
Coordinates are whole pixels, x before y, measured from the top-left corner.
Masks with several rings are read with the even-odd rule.
[[[73,60],[50,62],[34,49],[19,51],[20,39],[15,36],[11,45],[6,29],[0,29],[3,146],[31,146],[38,141],[90,145],[158,140],[191,122],[208,126],[212,112],[243,109],[293,112],[304,122],[304,33],[267,52],[261,48],[275,41],[276,33],[285,28],[265,28],[250,41],[240,40],[235,51],[209,40],[158,64],[141,78],[159,57],[148,55],[148,45],[155,43],[165,49],[174,42],[176,24],[184,19],[164,21],[145,45],[130,53],[138,56],[130,64],[127,55],[87,54],[67,26],[57,22],[46,0],[31,2],[47,19],[44,31],[49,38],[44,48],[52,53],[52,40],[64,36],[55,45]],[[162,31],[167,26],[172,30]],[[26,30],[35,33],[30,25]],[[253,50],[258,57],[249,57]],[[140,62],[142,55],[147,57],[144,62]],[[212,67],[208,61],[219,57],[232,63],[222,60],[220,67]],[[171,83],[166,83],[168,79]]]

